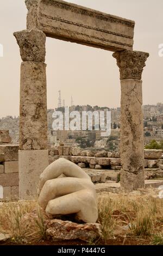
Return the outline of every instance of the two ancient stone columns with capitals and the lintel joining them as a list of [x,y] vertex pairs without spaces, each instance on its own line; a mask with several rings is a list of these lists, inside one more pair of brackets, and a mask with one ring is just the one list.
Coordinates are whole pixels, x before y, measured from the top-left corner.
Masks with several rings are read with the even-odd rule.
[[[114,52],[112,56],[120,69],[121,80],[121,163],[116,166],[122,164],[123,188],[144,187],[141,78],[149,54],[133,50],[135,22],[61,0],[25,2],[27,29],[14,33],[22,58],[18,152],[20,199],[36,195],[39,176],[48,166],[46,36]],[[102,161],[111,160],[97,161],[93,166],[103,166]]]

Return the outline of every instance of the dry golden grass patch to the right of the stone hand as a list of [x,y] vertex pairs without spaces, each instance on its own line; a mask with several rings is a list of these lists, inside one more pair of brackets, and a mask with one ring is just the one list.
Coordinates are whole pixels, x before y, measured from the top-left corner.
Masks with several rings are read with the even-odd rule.
[[104,240],[134,236],[150,241],[159,237],[158,241],[162,242],[163,200],[152,193],[103,192],[98,196],[98,222],[102,224]]

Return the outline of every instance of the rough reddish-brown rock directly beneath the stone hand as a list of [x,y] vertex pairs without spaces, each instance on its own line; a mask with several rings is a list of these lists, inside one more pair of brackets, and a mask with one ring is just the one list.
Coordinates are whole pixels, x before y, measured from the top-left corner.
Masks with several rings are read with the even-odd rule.
[[102,237],[102,227],[98,223],[77,224],[71,221],[48,220],[45,225],[46,235],[53,241],[73,239],[93,241]]

